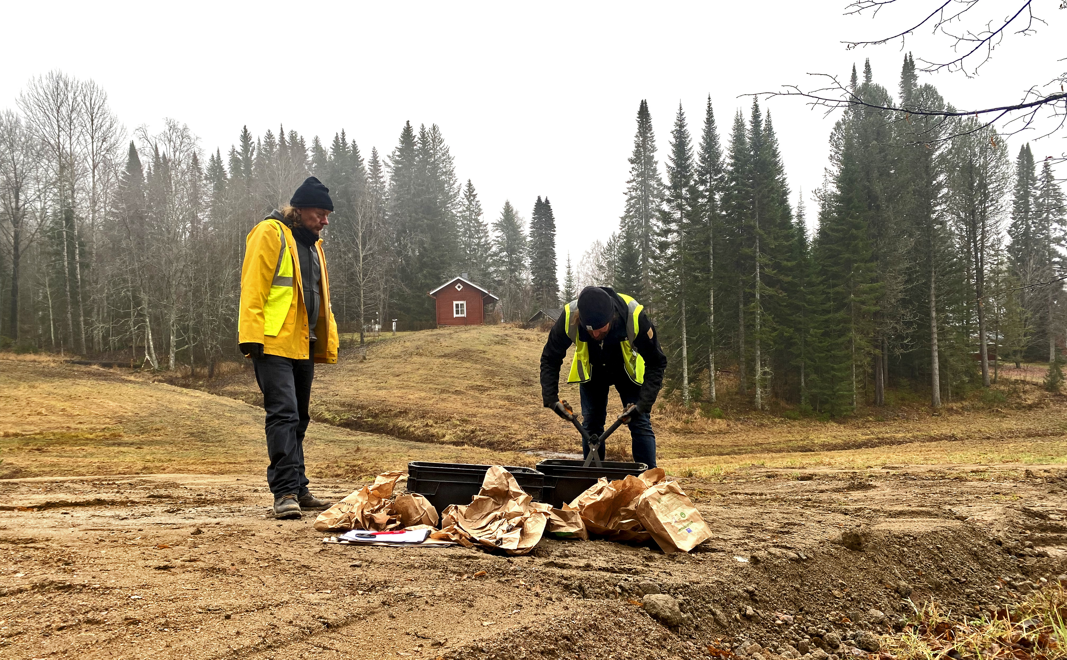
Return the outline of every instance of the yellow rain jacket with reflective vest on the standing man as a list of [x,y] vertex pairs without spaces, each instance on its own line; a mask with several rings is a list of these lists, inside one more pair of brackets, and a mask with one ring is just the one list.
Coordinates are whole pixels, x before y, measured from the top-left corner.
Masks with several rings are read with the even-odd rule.
[[[275,211],[244,239],[238,342],[264,344],[264,353],[307,359],[310,333],[300,259],[292,231]],[[337,322],[330,307],[330,277],[322,240],[315,243],[322,271],[322,303],[315,320],[315,361],[337,361]]]

